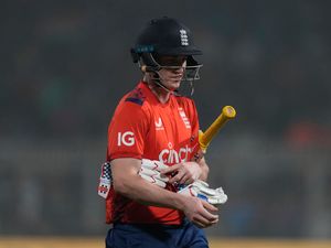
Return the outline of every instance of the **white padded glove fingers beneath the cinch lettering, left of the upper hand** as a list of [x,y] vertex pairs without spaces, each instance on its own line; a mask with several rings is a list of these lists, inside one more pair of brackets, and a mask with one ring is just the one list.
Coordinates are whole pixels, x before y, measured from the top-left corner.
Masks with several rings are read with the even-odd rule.
[[161,163],[158,160],[142,159],[139,175],[150,183],[157,184],[160,187],[166,187],[169,177],[166,175],[161,175],[160,171],[167,168],[168,165]]

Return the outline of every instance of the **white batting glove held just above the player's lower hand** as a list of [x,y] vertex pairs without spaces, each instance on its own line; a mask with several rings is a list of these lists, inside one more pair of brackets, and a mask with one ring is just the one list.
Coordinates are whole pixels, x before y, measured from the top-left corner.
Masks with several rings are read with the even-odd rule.
[[212,205],[224,204],[227,201],[227,195],[222,187],[215,190],[210,188],[210,185],[203,181],[196,180],[194,183],[180,190],[179,194],[191,195],[202,198]]

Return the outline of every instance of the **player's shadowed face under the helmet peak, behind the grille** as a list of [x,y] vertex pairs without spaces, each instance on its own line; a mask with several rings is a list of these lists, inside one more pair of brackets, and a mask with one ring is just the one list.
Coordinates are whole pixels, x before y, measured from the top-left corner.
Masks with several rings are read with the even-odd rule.
[[160,56],[158,63],[162,66],[159,71],[162,84],[171,90],[178,89],[184,76],[186,56]]

